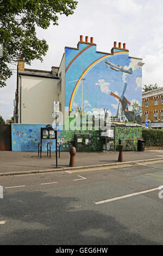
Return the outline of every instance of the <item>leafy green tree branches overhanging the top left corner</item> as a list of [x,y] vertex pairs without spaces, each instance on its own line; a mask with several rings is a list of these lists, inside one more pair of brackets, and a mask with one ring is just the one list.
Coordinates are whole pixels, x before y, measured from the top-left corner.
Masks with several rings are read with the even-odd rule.
[[48,45],[45,39],[38,39],[35,27],[47,29],[51,22],[58,25],[58,15],[72,15],[77,7],[74,0],[0,0],[0,87],[12,75],[10,64],[23,58],[32,60],[46,55]]

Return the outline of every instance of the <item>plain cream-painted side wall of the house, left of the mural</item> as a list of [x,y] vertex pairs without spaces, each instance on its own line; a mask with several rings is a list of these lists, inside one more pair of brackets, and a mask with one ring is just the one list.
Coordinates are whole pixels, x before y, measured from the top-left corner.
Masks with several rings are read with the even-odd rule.
[[21,78],[18,78],[18,123],[52,124],[54,101],[58,101],[58,79],[21,75],[22,93],[20,95]]

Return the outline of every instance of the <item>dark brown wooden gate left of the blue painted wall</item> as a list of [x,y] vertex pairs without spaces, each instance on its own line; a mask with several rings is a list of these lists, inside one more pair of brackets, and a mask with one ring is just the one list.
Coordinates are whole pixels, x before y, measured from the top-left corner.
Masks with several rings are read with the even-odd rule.
[[11,151],[11,125],[0,125],[0,150]]

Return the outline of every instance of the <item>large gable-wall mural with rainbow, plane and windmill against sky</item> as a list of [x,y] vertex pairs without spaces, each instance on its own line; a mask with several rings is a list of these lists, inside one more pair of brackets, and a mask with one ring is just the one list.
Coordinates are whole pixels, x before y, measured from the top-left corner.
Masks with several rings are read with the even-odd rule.
[[140,59],[128,50],[114,54],[96,51],[96,45],[79,43],[79,50],[65,48],[65,106],[74,114],[95,117],[104,108],[112,121],[141,124],[142,69]]

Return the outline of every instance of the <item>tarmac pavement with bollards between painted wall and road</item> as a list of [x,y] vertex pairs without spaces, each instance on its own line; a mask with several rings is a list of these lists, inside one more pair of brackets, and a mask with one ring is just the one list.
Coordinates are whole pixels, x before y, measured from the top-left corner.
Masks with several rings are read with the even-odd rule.
[[[142,152],[124,151],[124,162],[144,161],[151,159],[163,159],[163,150],[149,149]],[[114,165],[119,163],[118,152],[90,152],[77,153],[75,157],[76,168]],[[28,172],[49,172],[53,170],[68,170],[70,163],[70,153],[61,152],[58,158],[58,169],[55,167],[55,153],[51,153],[51,159],[47,157],[47,153],[42,153],[42,158],[37,156],[37,152],[24,151],[0,151],[0,175],[22,174]]]

